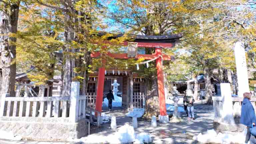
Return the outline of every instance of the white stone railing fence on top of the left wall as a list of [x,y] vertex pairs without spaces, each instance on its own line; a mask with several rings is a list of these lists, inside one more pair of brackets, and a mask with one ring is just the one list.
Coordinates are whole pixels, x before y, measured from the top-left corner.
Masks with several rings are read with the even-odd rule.
[[[28,118],[33,121],[45,122],[70,122],[76,123],[89,116],[90,122],[97,117],[100,124],[100,112],[89,107],[87,103],[91,95],[79,94],[80,83],[71,83],[71,95],[60,97],[11,97],[10,94],[3,94],[1,97],[0,118],[10,118],[15,121]],[[98,115],[97,115],[98,114]],[[7,118],[8,117],[8,118]],[[89,120],[88,120],[89,121]],[[98,126],[99,126],[98,124]]]

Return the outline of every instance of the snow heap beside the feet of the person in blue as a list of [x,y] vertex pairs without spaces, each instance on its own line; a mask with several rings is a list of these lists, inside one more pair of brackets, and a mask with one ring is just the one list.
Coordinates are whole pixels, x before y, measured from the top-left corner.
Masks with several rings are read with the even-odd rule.
[[247,130],[244,129],[241,133],[218,133],[214,130],[207,130],[206,134],[198,134],[193,137],[193,140],[197,140],[201,143],[219,143],[219,144],[230,144],[237,143],[243,144],[245,141]]

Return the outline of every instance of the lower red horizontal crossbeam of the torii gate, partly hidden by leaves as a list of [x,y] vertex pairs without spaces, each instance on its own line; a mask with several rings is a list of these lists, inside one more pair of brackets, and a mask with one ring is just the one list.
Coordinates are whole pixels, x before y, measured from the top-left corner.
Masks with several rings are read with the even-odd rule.
[[[110,57],[113,57],[115,59],[128,59],[127,57],[127,53],[108,53],[107,54],[108,56]],[[91,57],[92,58],[96,58],[100,56],[100,53],[99,52],[95,52],[95,53],[91,53]],[[171,56],[169,55],[162,55],[163,56],[163,60],[166,60],[166,61],[170,61],[172,60]],[[137,54],[137,57],[135,59],[140,59],[140,58],[144,58],[145,60],[151,60],[153,58],[156,58],[157,55],[155,54]]]

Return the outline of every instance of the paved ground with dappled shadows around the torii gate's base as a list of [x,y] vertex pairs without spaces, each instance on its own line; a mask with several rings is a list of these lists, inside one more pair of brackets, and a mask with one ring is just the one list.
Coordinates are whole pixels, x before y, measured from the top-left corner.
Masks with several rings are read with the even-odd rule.
[[[182,106],[182,104],[179,104]],[[195,103],[195,120],[187,119],[186,113],[181,113],[181,117],[184,122],[181,123],[159,123],[157,127],[151,127],[151,121],[138,119],[138,128],[135,128],[136,133],[146,132],[152,137],[153,143],[175,143],[175,144],[198,144],[198,141],[194,141],[192,138],[199,133],[204,133],[207,129],[213,129],[213,106],[207,104],[201,104],[201,101]],[[109,116],[115,116],[117,122],[117,128],[124,124],[132,125],[132,118],[127,117],[126,109],[114,107],[113,111],[107,111],[107,108],[103,108],[103,112]],[[110,122],[105,123],[101,128],[91,131],[93,135],[108,136],[113,134],[117,130],[110,128]]]

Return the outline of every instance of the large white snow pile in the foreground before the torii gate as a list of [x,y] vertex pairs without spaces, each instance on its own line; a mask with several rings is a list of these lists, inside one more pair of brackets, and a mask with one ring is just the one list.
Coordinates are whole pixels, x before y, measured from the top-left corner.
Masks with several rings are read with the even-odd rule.
[[136,144],[144,144],[144,143],[152,143],[151,136],[147,133],[136,134],[134,129],[130,125],[124,125],[119,128],[117,132],[114,134],[110,134],[108,136],[100,136],[100,135],[89,135],[87,137],[82,137],[81,139],[71,139],[68,141],[72,142],[82,142],[82,143],[136,143]]

